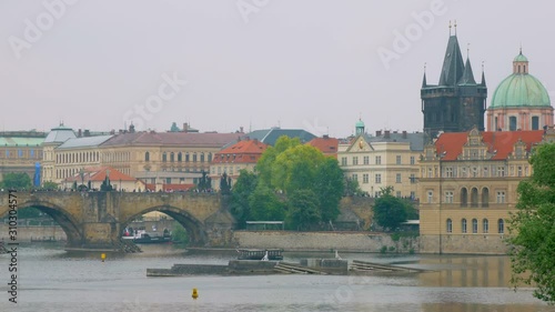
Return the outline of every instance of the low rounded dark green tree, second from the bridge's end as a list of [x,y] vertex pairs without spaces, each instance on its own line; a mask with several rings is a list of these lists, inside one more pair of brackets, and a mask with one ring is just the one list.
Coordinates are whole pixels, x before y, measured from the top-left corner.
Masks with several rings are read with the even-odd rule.
[[249,207],[254,221],[283,221],[285,219],[283,203],[264,183],[259,183],[249,197]]

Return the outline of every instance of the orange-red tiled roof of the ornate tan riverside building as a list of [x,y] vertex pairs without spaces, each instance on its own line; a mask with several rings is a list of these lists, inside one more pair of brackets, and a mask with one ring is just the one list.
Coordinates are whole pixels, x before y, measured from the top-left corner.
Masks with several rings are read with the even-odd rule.
[[[483,142],[488,147],[488,151],[492,153],[495,151],[492,160],[504,160],[513,152],[514,144],[518,140],[524,142],[526,150],[529,151],[533,144],[543,140],[544,131],[484,131],[481,134]],[[468,132],[442,133],[435,141],[436,152],[438,154],[445,152],[443,160],[456,160],[462,153],[467,139]]]

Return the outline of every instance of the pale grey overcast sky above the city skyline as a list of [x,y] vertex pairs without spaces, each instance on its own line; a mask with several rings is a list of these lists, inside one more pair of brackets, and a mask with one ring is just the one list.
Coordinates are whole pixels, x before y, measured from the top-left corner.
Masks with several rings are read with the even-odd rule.
[[[49,4],[51,3],[51,4]],[[422,131],[457,22],[488,103],[522,43],[555,95],[548,1],[0,1],[1,130],[201,131],[274,125],[334,137]],[[418,21],[420,20],[420,21]],[[454,29],[452,30],[454,32]],[[401,36],[403,38],[401,38]]]

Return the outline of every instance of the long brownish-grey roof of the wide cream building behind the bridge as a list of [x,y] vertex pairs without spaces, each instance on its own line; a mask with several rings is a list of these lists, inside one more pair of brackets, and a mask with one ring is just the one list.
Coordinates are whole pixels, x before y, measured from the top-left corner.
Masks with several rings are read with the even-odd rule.
[[244,133],[134,132],[117,134],[102,143],[113,145],[188,145],[221,148]]

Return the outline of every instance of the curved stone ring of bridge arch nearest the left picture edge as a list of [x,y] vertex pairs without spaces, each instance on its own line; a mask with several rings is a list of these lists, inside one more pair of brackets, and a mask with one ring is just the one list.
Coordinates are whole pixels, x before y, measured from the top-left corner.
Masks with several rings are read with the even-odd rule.
[[[50,215],[50,218],[62,228],[63,232],[65,232],[68,245],[80,246],[83,243],[83,233],[79,222],[61,207],[46,201],[26,201],[18,203],[18,210],[26,208],[34,208]],[[4,218],[7,214],[8,211],[3,213],[3,215],[0,215],[0,218]]]

